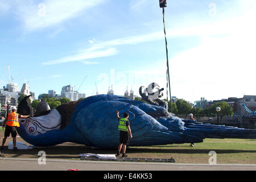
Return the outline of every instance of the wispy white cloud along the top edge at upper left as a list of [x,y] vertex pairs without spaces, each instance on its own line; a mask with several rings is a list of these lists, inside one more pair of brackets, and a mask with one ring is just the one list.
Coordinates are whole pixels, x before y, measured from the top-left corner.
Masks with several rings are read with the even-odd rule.
[[[14,14],[23,22],[28,32],[40,28],[55,26],[65,20],[86,13],[86,10],[100,5],[105,0],[45,0],[40,3],[34,1],[11,1]],[[2,1],[1,1],[2,2]],[[0,10],[9,10],[10,2],[1,3]]]

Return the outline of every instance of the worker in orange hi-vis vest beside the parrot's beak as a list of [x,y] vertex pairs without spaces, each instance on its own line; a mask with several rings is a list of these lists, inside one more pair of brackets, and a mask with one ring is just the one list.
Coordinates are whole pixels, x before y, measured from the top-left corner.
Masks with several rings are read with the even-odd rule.
[[7,139],[7,137],[10,136],[13,137],[13,150],[16,151],[18,150],[18,148],[16,147],[16,128],[15,127],[19,127],[19,118],[28,118],[28,115],[21,115],[16,113],[16,107],[13,106],[11,107],[11,113],[9,113],[7,115],[7,118],[5,118],[5,121],[3,121],[3,126],[5,127],[6,125],[6,129],[5,129],[5,137],[3,138],[3,142],[2,142],[2,147],[1,150],[3,150],[3,146],[5,145],[5,141]]

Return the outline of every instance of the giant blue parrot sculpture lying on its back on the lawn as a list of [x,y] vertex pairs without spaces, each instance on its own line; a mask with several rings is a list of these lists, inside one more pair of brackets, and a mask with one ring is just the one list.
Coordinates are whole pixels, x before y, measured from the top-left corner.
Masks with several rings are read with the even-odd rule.
[[[27,105],[28,97],[20,102],[18,113],[31,113],[22,110]],[[153,105],[100,94],[60,105],[53,110],[49,110],[43,102],[46,109],[38,111],[41,114],[35,117],[19,119],[17,131],[20,137],[35,146],[73,142],[98,148],[116,148],[119,130],[115,110],[118,110],[121,117],[123,113],[129,113],[133,134],[130,146],[199,143],[205,138],[256,138],[256,130],[203,124],[175,117],[167,111],[168,107],[162,100],[157,98],[155,101]]]

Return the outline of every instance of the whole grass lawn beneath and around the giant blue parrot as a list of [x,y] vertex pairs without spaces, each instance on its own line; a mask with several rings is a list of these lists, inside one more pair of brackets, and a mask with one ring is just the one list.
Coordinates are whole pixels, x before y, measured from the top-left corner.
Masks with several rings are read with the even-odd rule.
[[[1,144],[3,130],[0,127]],[[52,147],[34,148],[31,150],[7,150],[12,141],[6,140],[5,148],[1,152],[6,158],[38,158],[39,151],[45,151],[46,157],[51,159],[79,159],[79,154],[115,154],[117,149],[93,149],[76,143],[62,143]],[[17,141],[24,142],[20,137]],[[26,143],[26,142],[24,142]],[[26,143],[30,145],[29,143]],[[205,139],[203,143],[168,144],[164,146],[129,147],[127,154],[131,158],[174,158],[176,163],[208,164],[210,151],[217,154],[217,164],[256,164],[256,139]]]

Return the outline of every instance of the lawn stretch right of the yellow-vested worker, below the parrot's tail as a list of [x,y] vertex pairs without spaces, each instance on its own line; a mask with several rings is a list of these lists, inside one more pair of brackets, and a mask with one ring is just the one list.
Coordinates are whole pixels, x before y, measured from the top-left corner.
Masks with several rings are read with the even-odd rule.
[[166,158],[168,155],[174,158],[176,163],[208,163],[209,152],[215,151],[218,164],[256,164],[255,139],[205,139],[203,143],[196,143],[194,147],[184,143],[130,148],[159,158]]

